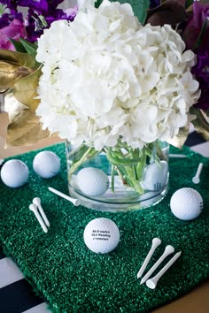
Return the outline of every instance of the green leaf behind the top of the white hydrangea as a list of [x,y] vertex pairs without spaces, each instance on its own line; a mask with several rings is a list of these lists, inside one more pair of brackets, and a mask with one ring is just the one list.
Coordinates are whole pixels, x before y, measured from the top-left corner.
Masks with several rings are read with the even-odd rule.
[[[98,7],[102,2],[103,0],[97,0],[96,7]],[[150,0],[119,0],[119,2],[120,4],[130,4],[133,11],[135,12],[135,16],[139,19],[139,21],[142,24],[145,22],[147,10],[150,6]]]

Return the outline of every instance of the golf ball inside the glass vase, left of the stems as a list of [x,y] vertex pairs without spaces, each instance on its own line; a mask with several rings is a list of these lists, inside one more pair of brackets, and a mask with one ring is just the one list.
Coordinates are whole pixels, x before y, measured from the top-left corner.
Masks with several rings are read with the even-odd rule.
[[107,175],[97,168],[86,167],[77,174],[77,184],[81,192],[89,196],[103,195],[109,187]]

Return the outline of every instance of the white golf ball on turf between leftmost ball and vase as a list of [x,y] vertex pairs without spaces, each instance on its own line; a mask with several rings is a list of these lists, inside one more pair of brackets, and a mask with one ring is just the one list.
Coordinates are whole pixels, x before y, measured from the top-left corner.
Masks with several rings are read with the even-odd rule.
[[60,170],[60,159],[52,151],[39,152],[33,162],[34,171],[43,179],[56,176]]

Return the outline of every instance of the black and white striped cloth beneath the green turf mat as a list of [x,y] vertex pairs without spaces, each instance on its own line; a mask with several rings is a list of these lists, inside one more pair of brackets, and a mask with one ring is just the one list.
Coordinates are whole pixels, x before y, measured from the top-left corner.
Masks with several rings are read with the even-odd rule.
[[[192,129],[186,144],[190,149],[209,157],[209,142]],[[0,303],[3,313],[50,313],[46,302],[38,298],[24,279],[18,266],[5,257],[0,247]]]

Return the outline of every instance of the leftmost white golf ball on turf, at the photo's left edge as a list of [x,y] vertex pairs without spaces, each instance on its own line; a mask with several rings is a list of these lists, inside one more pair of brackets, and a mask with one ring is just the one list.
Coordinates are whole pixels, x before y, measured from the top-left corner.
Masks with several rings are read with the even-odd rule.
[[8,187],[18,188],[27,183],[29,171],[27,164],[20,160],[10,160],[4,163],[1,179]]

